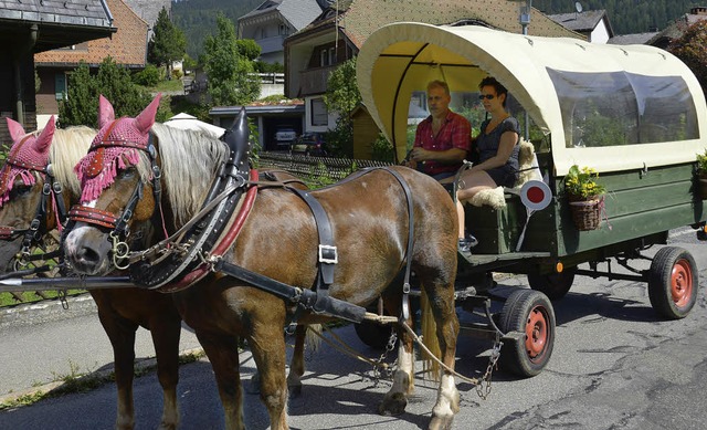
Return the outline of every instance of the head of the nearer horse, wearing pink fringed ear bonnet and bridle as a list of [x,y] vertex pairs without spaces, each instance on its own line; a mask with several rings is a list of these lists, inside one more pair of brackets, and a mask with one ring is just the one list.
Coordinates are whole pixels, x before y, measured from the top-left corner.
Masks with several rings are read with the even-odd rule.
[[66,262],[78,273],[106,274],[117,266],[117,259],[129,251],[135,224],[150,224],[159,207],[161,170],[150,139],[159,99],[158,95],[135,118],[116,119],[113,106],[101,96],[101,129],[75,167],[82,192],[80,204],[70,211],[74,226],[64,243]]

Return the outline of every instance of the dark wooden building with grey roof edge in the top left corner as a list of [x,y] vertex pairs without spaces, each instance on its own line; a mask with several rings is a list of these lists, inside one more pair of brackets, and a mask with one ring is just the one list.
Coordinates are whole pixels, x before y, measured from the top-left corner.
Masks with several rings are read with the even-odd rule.
[[[106,38],[116,31],[105,0],[0,0],[0,116],[36,128],[34,54]],[[0,139],[9,141],[4,120]]]

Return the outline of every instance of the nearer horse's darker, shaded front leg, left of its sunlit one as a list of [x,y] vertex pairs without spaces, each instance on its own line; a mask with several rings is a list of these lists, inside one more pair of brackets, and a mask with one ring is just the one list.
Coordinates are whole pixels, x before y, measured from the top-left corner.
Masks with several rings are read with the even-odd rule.
[[209,361],[211,361],[211,368],[217,379],[219,397],[223,406],[225,429],[245,429],[238,338],[203,333],[199,329],[196,329],[196,333],[207,357],[209,357]]

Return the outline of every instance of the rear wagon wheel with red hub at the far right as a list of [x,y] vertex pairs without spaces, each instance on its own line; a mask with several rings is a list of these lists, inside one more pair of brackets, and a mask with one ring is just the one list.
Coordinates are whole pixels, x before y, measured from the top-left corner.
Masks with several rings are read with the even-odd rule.
[[659,315],[684,318],[697,300],[699,286],[695,259],[685,249],[664,247],[648,271],[648,297]]

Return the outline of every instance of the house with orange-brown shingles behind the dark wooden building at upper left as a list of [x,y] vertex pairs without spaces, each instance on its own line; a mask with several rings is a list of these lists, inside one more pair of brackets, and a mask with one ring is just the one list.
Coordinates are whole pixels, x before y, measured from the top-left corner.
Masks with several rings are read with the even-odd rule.
[[110,10],[115,33],[34,55],[41,81],[36,92],[38,124],[59,114],[59,101],[66,95],[66,76],[84,61],[97,67],[106,56],[117,64],[141,70],[147,61],[148,24],[124,0],[104,0]]

